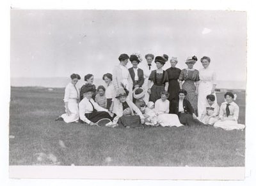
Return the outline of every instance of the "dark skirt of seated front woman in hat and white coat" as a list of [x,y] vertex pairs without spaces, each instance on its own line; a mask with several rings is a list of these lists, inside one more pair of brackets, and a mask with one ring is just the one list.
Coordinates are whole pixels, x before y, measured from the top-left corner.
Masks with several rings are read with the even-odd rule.
[[118,119],[119,127],[131,127],[137,128],[142,127],[140,117],[138,115],[122,116]]

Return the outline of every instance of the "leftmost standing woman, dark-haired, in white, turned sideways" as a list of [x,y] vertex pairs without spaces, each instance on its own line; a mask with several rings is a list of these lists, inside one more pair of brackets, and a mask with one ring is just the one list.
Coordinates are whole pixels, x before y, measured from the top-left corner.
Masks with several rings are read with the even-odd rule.
[[115,89],[124,88],[125,90],[129,91],[128,98],[132,100],[132,78],[127,69],[126,65],[128,63],[129,55],[121,54],[118,57],[120,64],[115,66],[113,69],[113,85]]

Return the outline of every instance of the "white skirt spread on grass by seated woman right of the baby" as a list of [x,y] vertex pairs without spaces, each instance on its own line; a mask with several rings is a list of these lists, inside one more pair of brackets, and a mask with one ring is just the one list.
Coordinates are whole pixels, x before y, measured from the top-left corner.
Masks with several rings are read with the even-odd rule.
[[179,117],[172,113],[164,113],[157,116],[157,123],[163,127],[180,127]]

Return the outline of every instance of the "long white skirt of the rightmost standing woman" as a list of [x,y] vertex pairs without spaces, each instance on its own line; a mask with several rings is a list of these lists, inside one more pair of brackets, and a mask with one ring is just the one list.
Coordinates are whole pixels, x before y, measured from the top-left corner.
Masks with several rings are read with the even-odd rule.
[[[198,108],[198,116],[201,117],[202,113],[205,109],[205,104],[207,103],[206,96],[211,94],[212,90],[212,82],[208,81],[200,81],[198,85],[198,99],[197,99],[197,108]],[[217,103],[216,93],[213,94],[215,96],[215,103]]]

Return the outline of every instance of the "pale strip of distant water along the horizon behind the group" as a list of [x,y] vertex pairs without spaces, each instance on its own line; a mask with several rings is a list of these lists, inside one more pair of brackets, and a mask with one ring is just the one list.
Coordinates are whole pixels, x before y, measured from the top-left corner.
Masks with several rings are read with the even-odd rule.
[[[59,78],[11,78],[12,87],[55,87],[61,88],[66,87],[67,83],[70,82],[70,78],[59,77]],[[246,82],[235,82],[235,81],[217,81],[216,89],[246,89]],[[84,84],[84,80],[79,80],[78,87]],[[94,84],[96,86],[105,85],[102,79],[95,78]]]

